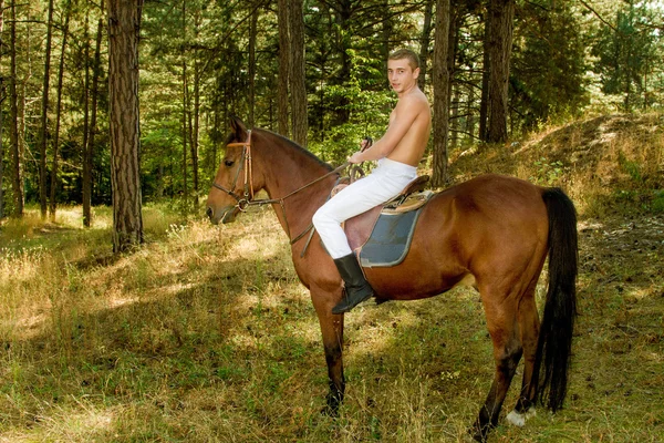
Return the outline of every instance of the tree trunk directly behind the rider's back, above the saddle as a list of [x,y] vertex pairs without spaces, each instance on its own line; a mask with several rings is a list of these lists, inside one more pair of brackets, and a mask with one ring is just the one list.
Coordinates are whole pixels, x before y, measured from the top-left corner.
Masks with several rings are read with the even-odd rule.
[[436,1],[434,37],[434,164],[432,185],[447,183],[447,136],[449,127],[449,0]]

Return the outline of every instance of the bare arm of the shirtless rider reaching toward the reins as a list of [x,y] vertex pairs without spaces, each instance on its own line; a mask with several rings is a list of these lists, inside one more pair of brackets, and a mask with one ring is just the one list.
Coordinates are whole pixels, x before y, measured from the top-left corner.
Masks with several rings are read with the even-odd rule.
[[415,119],[417,119],[417,115],[422,111],[422,106],[423,103],[415,97],[402,97],[394,107],[394,111],[392,111],[393,119],[390,126],[387,126],[385,134],[370,148],[351,155],[349,162],[362,163],[380,159],[390,155],[406,135],[413,125],[413,122],[415,122]]

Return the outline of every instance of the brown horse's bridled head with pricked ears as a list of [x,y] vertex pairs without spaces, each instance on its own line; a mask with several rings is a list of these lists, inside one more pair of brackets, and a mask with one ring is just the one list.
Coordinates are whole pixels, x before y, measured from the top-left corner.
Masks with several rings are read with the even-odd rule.
[[253,197],[251,171],[251,132],[237,117],[230,122],[231,134],[227,140],[224,159],[219,165],[206,214],[215,225],[235,222]]

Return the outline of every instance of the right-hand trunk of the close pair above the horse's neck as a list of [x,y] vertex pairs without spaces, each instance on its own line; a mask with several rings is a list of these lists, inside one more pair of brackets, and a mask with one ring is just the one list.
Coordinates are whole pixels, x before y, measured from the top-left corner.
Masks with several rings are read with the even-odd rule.
[[301,146],[307,146],[309,122],[307,116],[307,84],[304,82],[305,56],[303,8],[304,4],[302,0],[290,0],[290,90],[293,141]]

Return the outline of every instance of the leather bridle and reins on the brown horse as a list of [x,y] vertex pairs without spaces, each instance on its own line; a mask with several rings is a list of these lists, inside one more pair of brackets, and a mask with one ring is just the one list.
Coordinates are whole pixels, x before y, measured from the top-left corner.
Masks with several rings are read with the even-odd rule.
[[[227,147],[242,146],[241,166],[238,168],[238,172],[236,173],[231,188],[227,189],[226,187],[219,185],[216,182],[212,182],[212,186],[216,187],[217,189],[224,190],[226,194],[228,194],[232,198],[235,198],[236,202],[238,203],[235,207],[238,208],[242,213],[247,212],[247,208],[249,206],[263,206],[263,205],[270,205],[270,204],[278,203],[279,206],[281,207],[281,213],[283,214],[283,220],[286,222],[286,231],[288,233],[291,245],[295,244],[298,240],[300,240],[302,237],[304,237],[308,233],[311,231],[309,239],[307,240],[307,245],[304,246],[304,249],[302,250],[302,255],[304,255],[304,251],[307,250],[307,248],[309,246],[309,241],[311,241],[311,237],[313,236],[313,223],[310,223],[309,226],[307,226],[307,228],[302,233],[300,233],[298,236],[295,236],[294,238],[290,238],[290,226],[288,224],[288,218],[286,216],[286,199],[298,194],[299,192],[301,192],[303,189],[307,189],[310,186],[315,185],[317,183],[328,178],[331,175],[338,174],[339,172],[349,167],[351,165],[351,163],[345,162],[343,165],[330,171],[325,175],[322,175],[312,182],[309,182],[304,186],[297,188],[295,190],[284,195],[283,197],[262,198],[262,199],[255,200],[253,199],[253,172],[251,168],[251,130],[247,131],[247,134],[248,135],[247,135],[246,142],[228,143],[226,145]],[[245,171],[243,195],[239,196],[232,189],[236,188],[236,186],[238,184],[238,178],[240,177],[240,172],[242,169]]]

